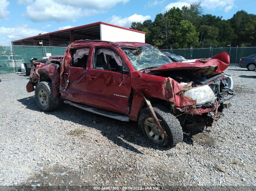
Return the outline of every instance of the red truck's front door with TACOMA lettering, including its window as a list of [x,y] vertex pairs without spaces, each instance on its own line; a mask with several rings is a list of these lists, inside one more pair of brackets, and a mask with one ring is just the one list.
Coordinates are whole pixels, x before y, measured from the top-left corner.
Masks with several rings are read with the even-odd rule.
[[129,113],[130,72],[123,71],[118,53],[107,47],[96,47],[92,64],[86,73],[88,104],[118,113]]

